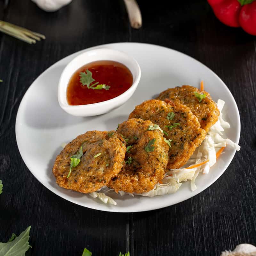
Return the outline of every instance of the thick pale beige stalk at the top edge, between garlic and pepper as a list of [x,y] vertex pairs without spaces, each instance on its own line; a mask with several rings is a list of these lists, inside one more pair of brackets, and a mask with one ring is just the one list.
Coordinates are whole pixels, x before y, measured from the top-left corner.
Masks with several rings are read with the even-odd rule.
[[132,28],[140,28],[142,26],[142,18],[140,7],[135,0],[124,0],[126,11]]

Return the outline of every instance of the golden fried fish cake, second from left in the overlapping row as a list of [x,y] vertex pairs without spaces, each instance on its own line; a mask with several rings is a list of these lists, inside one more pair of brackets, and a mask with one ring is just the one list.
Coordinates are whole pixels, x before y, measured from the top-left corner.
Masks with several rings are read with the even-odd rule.
[[117,132],[127,140],[125,164],[108,187],[129,193],[148,192],[164,178],[169,146],[160,130],[148,130],[153,123],[130,119],[119,125]]

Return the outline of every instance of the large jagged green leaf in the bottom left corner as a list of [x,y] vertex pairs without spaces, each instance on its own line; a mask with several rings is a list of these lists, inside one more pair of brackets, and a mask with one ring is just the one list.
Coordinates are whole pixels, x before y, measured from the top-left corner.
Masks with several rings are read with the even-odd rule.
[[28,226],[25,231],[20,233],[20,236],[14,237],[15,234],[12,234],[11,241],[9,239],[7,243],[0,243],[0,255],[25,256],[25,252],[31,247],[28,242],[30,228],[31,226]]

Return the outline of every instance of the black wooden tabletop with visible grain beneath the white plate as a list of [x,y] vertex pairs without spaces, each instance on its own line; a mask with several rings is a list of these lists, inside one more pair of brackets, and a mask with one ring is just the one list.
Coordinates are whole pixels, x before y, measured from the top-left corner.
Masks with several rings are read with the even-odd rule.
[[[0,241],[31,225],[28,255],[82,255],[84,247],[93,255],[220,255],[240,243],[256,244],[256,37],[221,24],[204,0],[138,2],[143,26],[134,30],[121,0],[73,0],[54,13],[30,0],[10,0],[3,10],[0,0],[0,20],[46,35],[29,45],[0,34]],[[199,195],[156,211],[100,212],[56,196],[23,163],[15,118],[30,84],[63,57],[113,42],[184,52],[216,72],[234,95],[242,149]]]

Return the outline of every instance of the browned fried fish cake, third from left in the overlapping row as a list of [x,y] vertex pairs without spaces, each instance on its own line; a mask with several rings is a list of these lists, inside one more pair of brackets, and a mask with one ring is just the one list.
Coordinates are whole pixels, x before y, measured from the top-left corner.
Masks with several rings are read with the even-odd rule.
[[167,169],[178,169],[184,165],[206,135],[197,117],[179,100],[168,100],[168,103],[146,100],[135,107],[129,118],[141,118],[158,124],[164,131],[164,137],[172,140]]

